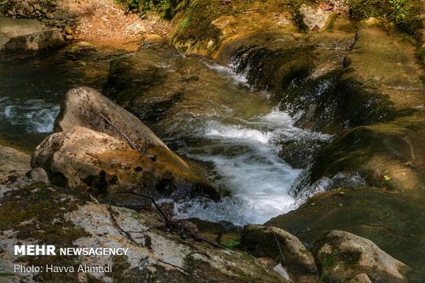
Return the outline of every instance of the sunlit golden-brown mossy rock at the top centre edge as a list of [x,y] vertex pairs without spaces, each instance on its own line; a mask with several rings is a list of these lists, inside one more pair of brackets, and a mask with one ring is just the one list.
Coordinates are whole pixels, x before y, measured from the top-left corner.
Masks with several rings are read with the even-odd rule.
[[232,38],[267,29],[298,31],[292,14],[293,7],[278,0],[191,1],[175,15],[170,39],[183,53],[214,57]]

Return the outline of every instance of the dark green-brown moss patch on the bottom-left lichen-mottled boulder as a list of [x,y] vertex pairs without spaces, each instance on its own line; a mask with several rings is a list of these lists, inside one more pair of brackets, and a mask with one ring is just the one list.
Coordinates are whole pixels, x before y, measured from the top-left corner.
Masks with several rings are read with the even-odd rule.
[[[0,230],[14,230],[16,238],[22,241],[72,247],[77,238],[88,233],[66,221],[64,214],[76,210],[88,198],[85,193],[41,183],[12,190],[0,200]],[[39,267],[78,265],[78,258],[74,256],[24,256],[20,260]],[[77,273],[40,273],[34,277],[40,282],[75,282],[76,279]]]

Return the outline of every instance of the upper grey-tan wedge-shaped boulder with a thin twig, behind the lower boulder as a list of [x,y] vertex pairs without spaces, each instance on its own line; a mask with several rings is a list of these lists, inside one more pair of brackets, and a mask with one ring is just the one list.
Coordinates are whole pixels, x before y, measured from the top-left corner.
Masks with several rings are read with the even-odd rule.
[[55,132],[81,126],[104,132],[124,143],[128,143],[127,138],[130,138],[136,146],[154,156],[156,164],[175,167],[182,174],[193,175],[189,165],[169,150],[149,127],[93,88],[69,90],[55,124]]

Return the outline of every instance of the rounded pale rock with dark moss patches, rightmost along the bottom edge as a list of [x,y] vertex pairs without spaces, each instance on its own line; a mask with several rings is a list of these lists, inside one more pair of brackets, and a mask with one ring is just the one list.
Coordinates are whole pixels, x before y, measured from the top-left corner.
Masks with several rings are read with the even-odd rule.
[[409,282],[406,273],[410,268],[406,264],[367,238],[349,232],[332,230],[322,235],[315,241],[313,252],[319,262],[332,260],[334,263],[326,270],[330,282],[342,282],[359,273],[365,273],[374,282]]

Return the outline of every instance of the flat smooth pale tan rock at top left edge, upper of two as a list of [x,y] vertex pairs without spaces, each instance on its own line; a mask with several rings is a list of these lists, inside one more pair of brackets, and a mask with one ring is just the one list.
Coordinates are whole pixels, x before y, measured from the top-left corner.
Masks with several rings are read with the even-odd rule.
[[12,38],[42,32],[40,22],[29,19],[0,18],[0,37]]

